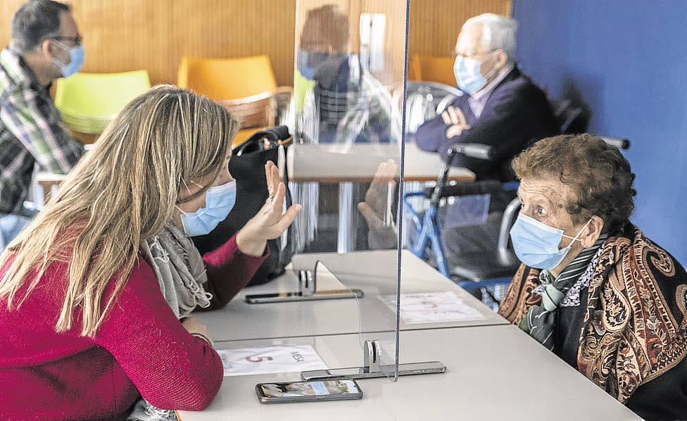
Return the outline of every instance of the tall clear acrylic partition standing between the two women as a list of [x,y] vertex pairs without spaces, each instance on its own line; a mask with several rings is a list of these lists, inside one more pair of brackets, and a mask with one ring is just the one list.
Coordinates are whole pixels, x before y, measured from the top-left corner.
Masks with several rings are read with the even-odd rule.
[[[405,0],[297,0],[289,233],[294,267],[320,260],[347,289],[361,345],[398,374]],[[361,356],[363,355],[361,351]],[[362,359],[361,359],[362,363]]]

